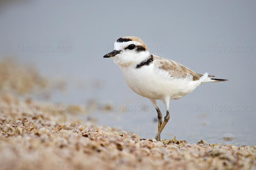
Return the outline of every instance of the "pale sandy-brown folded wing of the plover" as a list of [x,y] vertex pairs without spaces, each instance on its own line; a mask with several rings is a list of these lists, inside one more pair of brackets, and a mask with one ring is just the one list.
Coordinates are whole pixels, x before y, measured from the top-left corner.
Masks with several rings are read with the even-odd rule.
[[[186,78],[188,76],[192,76],[193,80],[198,80],[200,77],[202,77],[202,74],[198,74],[195,71],[190,70],[189,68],[186,68],[185,66],[181,65],[178,62],[172,61],[170,59],[162,58],[153,55],[154,58],[154,64],[158,68],[168,71],[171,77],[175,78]],[[208,76],[208,77],[214,77],[214,76]]]

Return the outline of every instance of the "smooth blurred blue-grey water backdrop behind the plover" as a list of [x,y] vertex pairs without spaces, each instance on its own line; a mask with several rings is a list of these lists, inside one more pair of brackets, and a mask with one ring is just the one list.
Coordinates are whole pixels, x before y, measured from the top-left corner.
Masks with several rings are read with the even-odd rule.
[[29,97],[84,105],[93,109],[79,119],[153,138],[157,113],[151,102],[131,91],[119,67],[103,58],[119,37],[140,37],[152,54],[229,80],[171,101],[163,139],[255,145],[255,8],[253,0],[1,0],[0,58],[61,81],[61,91]]

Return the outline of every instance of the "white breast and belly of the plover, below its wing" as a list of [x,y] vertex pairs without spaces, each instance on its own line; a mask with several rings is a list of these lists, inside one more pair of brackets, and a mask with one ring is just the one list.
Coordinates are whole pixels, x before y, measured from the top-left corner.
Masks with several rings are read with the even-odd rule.
[[142,68],[121,68],[128,86],[149,99],[179,99],[191,93],[199,84],[190,79],[173,79],[168,73],[154,69],[154,64]]

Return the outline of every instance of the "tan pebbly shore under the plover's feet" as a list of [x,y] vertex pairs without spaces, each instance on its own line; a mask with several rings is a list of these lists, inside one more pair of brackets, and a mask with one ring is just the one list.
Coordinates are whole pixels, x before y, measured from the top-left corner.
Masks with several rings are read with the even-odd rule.
[[[35,73],[32,76],[31,71],[8,69],[8,63],[4,70],[0,68],[0,169],[256,169],[255,146],[207,144],[203,140],[190,144],[175,138],[157,142],[76,120],[84,108],[59,108],[18,96],[15,92],[44,88],[41,81],[45,80]],[[15,79],[17,76],[21,78]]]

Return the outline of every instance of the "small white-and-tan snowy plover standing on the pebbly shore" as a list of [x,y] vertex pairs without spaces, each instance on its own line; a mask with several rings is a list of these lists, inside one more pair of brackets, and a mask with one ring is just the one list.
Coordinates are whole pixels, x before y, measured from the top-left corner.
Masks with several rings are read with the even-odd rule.
[[[114,50],[104,56],[113,57],[122,70],[128,86],[135,93],[150,99],[157,110],[158,132],[155,139],[160,141],[160,133],[170,119],[170,99],[180,99],[205,82],[222,82],[208,73],[198,74],[178,62],[150,54],[148,48],[138,37],[122,37],[114,43]],[[163,101],[166,116],[162,113],[157,99]]]

